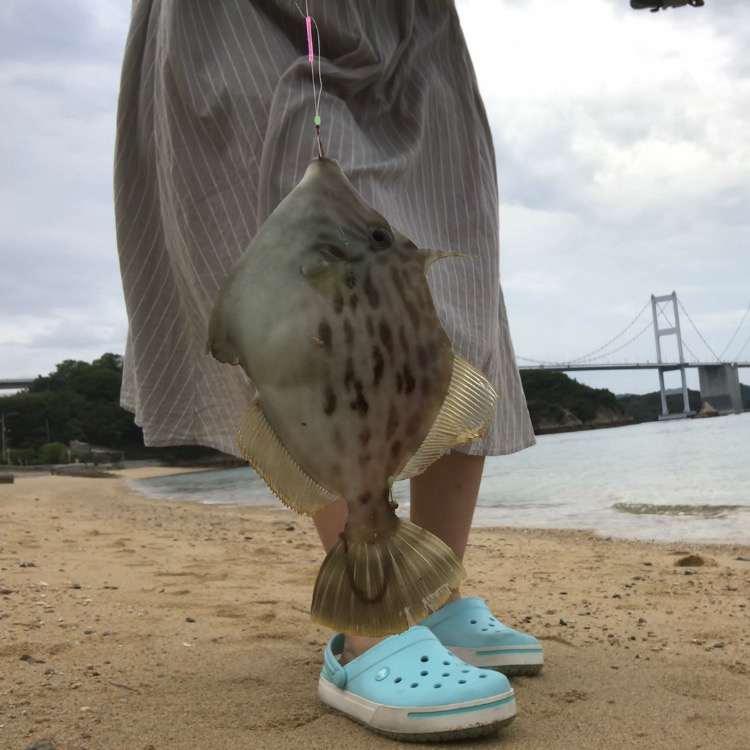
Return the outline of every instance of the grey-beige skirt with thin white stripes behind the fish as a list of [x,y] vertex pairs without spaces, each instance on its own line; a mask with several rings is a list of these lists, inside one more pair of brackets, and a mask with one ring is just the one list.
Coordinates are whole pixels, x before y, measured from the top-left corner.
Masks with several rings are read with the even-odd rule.
[[[453,3],[309,9],[327,155],[419,247],[471,256],[429,271],[455,351],[500,394],[485,435],[464,450],[533,444],[499,280],[491,134]],[[129,320],[121,400],[147,445],[239,455],[236,426],[254,389],[241,368],[206,353],[208,317],[234,262],[317,155],[313,115],[294,0],[134,0],[115,212]]]

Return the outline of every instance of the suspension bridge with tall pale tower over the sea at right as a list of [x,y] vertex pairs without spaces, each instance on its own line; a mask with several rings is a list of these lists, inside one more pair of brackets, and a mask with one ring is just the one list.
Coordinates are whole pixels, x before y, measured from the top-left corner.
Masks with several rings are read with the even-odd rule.
[[[651,308],[650,315],[647,313],[649,307]],[[691,326],[691,336],[693,333],[696,334],[702,346],[705,347],[701,356],[693,352],[683,336],[680,312],[684,314]],[[625,328],[593,351],[566,362],[517,356],[519,369],[562,372],[657,370],[662,406],[660,419],[673,419],[693,414],[688,403],[685,372],[687,368],[695,367],[698,369],[701,399],[708,401],[720,413],[738,412],[742,411],[739,369],[750,367],[749,315],[750,304],[726,346],[720,354],[717,354],[682,306],[676,292],[659,297],[652,294],[651,299]],[[645,324],[644,317],[646,318]],[[747,334],[746,337],[745,334]],[[668,340],[667,346],[663,344],[664,337],[673,337]],[[699,347],[695,346],[695,348]],[[747,355],[745,355],[746,350],[748,350]],[[690,359],[686,359],[686,351]],[[728,357],[727,352],[730,352]],[[664,374],[671,371],[679,371],[680,387],[665,387]],[[681,412],[669,412],[667,396],[672,395],[682,395],[683,410]]]

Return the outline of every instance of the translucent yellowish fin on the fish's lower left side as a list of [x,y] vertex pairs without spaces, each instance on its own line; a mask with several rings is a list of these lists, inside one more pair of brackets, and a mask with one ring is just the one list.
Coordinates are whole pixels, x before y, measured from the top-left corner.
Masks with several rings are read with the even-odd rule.
[[312,516],[338,499],[297,465],[268,424],[257,399],[242,415],[237,442],[271,492],[297,513]]

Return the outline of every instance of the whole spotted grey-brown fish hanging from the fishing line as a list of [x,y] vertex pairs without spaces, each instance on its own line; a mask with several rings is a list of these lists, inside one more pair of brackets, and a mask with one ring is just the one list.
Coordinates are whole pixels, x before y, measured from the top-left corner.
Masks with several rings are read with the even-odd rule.
[[314,515],[339,498],[344,530],[315,581],[311,617],[336,631],[399,633],[466,573],[399,518],[395,481],[482,434],[498,394],[453,352],[418,248],[334,159],[315,158],[230,271],[207,350],[257,389],[242,455],[281,501]]

